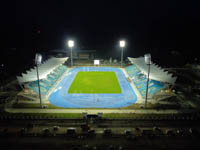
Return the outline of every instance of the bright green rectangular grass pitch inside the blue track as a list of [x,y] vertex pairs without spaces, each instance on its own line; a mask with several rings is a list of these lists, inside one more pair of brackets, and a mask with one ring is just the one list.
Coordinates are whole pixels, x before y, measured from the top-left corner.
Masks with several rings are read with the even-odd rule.
[[68,93],[108,94],[121,93],[115,72],[80,71],[74,78]]

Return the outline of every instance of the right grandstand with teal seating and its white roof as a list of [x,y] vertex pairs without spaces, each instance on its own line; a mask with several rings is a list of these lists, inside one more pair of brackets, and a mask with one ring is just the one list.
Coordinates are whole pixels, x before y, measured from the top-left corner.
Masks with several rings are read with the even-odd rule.
[[[144,57],[128,57],[128,59],[132,65],[126,67],[125,70],[141,96],[144,97],[146,93],[148,66],[145,64]],[[174,85],[176,81],[176,77],[173,77],[172,74],[169,74],[154,63],[151,64],[149,79],[149,96],[153,96],[161,89],[164,89],[166,84]]]

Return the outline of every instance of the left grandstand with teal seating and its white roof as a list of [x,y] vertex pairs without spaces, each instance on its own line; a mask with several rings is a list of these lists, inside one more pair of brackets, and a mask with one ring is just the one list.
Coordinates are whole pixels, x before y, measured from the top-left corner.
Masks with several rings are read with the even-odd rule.
[[[67,67],[63,65],[68,60],[65,58],[52,57],[46,62],[38,66],[41,95],[47,96],[50,90],[54,87],[61,76],[66,72]],[[33,93],[38,93],[37,72],[36,67],[17,76],[19,84],[25,89],[31,90]]]

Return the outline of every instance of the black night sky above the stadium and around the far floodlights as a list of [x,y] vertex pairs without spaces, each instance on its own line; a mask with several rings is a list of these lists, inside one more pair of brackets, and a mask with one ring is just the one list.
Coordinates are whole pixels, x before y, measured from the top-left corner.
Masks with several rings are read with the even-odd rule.
[[125,56],[151,52],[158,63],[172,57],[193,60],[200,49],[199,6],[185,0],[4,1],[1,61],[18,56],[28,62],[35,52],[66,49],[69,38],[76,49],[113,57],[120,55],[118,41],[125,39]]

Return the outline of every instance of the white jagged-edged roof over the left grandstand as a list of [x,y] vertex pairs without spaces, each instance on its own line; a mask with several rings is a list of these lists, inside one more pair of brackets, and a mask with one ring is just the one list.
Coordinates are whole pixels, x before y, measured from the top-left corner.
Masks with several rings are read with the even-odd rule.
[[[65,58],[56,58],[52,57],[48,59],[46,62],[38,66],[39,78],[44,79],[47,78],[47,75],[51,73],[56,67],[63,64],[67,61],[68,57]],[[32,82],[37,80],[37,72],[36,67],[26,71],[26,73],[22,73],[22,76],[17,76],[17,80],[20,84],[25,82]]]

